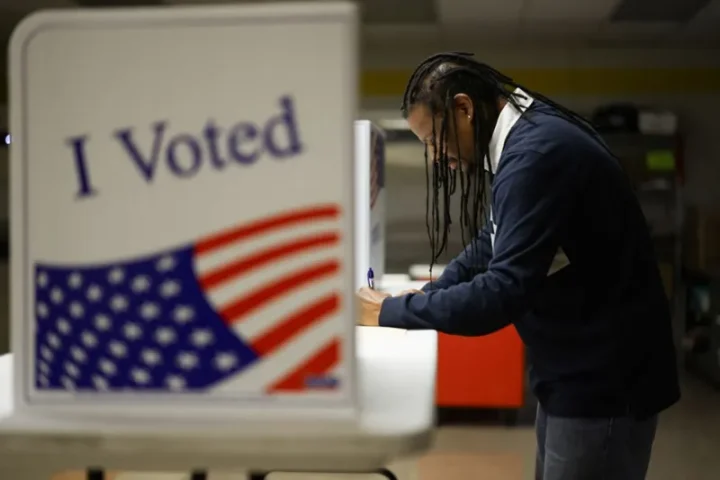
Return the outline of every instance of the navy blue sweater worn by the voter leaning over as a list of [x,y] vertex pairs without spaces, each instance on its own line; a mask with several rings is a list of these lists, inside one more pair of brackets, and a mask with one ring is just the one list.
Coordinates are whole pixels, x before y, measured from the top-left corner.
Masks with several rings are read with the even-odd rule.
[[[549,112],[536,101],[510,130],[492,187],[495,225],[425,294],[386,299],[380,325],[472,336],[513,324],[548,413],[645,418],[680,397],[649,230],[617,160]],[[569,264],[550,275],[559,249]],[[489,260],[475,276],[473,252]]]

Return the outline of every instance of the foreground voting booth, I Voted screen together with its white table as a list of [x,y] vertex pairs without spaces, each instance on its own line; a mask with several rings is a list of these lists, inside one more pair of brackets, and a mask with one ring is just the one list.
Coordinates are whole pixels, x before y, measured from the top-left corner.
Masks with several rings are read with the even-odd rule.
[[21,23],[0,478],[362,472],[427,447],[435,333],[355,327],[356,37],[328,2]]

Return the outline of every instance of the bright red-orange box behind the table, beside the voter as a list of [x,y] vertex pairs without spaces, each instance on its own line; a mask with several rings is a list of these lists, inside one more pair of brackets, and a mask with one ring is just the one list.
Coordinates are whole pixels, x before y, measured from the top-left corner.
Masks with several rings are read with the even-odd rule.
[[508,326],[484,337],[438,335],[439,407],[520,408],[525,347]]

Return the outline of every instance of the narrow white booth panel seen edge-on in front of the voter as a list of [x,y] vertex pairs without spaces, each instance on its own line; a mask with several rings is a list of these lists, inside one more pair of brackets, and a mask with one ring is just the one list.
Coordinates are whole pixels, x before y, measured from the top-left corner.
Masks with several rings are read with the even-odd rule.
[[355,122],[355,255],[357,287],[385,274],[385,134],[369,120]]

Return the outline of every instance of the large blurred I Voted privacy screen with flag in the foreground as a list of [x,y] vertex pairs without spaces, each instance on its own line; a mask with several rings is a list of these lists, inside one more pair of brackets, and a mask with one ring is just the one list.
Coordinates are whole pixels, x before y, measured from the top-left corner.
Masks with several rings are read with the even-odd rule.
[[21,24],[20,404],[354,405],[354,36],[343,4]]

